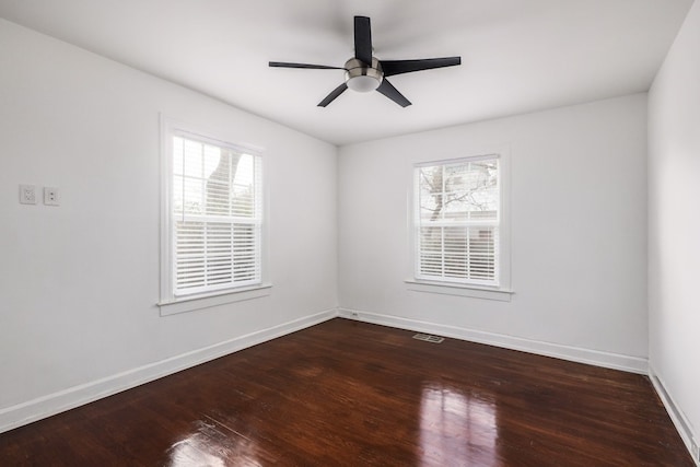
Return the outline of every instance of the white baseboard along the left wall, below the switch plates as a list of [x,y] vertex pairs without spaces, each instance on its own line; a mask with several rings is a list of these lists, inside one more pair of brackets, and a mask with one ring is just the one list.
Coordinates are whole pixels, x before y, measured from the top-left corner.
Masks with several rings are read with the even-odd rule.
[[328,310],[0,410],[0,433],[338,316]]

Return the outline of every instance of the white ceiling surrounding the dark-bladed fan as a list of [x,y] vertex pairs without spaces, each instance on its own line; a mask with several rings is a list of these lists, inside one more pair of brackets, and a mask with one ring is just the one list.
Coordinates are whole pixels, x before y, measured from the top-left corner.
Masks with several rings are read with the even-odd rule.
[[[335,144],[646,91],[692,0],[0,0],[0,16]],[[354,15],[413,105],[347,91]]]

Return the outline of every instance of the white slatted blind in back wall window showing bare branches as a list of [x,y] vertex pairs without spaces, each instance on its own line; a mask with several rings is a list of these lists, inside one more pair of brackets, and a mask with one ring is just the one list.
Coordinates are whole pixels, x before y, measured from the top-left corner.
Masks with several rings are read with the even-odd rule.
[[499,156],[415,168],[416,278],[499,285]]

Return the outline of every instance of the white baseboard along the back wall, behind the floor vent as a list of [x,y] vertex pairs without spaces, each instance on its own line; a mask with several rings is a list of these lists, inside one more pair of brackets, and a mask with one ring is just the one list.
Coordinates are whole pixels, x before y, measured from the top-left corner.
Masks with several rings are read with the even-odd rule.
[[456,326],[441,325],[436,323],[421,322],[417,319],[401,318],[378,313],[361,312],[355,310],[339,308],[339,316],[365,323],[373,323],[400,329],[420,332],[435,334],[471,342],[487,343],[505,349],[521,350],[539,355],[555,357],[579,363],[587,363],[614,370],[622,370],[631,373],[646,374],[648,361],[640,357],[622,355],[598,350],[583,349],[579,347],[562,346],[559,343],[542,342],[524,339],[521,337],[505,336],[501,334],[486,332],[481,330],[460,328]]

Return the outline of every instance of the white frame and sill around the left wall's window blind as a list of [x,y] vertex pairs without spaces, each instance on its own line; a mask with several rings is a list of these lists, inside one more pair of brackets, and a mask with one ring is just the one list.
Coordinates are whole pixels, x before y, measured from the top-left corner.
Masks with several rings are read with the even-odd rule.
[[262,196],[262,213],[259,235],[260,279],[246,285],[232,285],[220,290],[176,295],[174,288],[174,244],[173,225],[173,138],[176,136],[208,142],[214,145],[233,149],[236,152],[260,157],[262,150],[249,145],[231,143],[228,138],[211,131],[203,131],[192,125],[185,124],[161,115],[161,316],[191,312],[226,303],[257,299],[270,294],[271,284],[267,278],[267,184],[265,174],[261,178],[260,195]]

